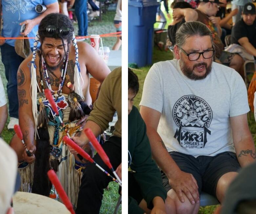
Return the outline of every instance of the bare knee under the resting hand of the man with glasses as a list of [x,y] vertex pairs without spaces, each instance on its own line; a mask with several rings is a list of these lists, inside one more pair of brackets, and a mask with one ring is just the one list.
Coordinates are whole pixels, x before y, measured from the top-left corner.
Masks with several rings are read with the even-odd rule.
[[198,213],[199,204],[192,205],[188,198],[183,194],[184,202],[182,203],[177,195],[177,193],[171,189],[167,192],[167,195],[174,201],[177,214],[195,214]]

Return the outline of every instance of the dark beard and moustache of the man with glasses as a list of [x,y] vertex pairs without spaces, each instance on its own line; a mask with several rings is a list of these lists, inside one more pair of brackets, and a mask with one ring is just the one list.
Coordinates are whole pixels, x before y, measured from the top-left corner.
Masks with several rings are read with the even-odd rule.
[[[206,72],[203,76],[197,76],[194,74],[193,70],[196,66],[198,65],[205,65],[206,68]],[[180,59],[180,67],[181,67],[181,71],[182,73],[189,79],[191,80],[203,80],[204,78],[206,78],[208,76],[209,73],[211,73],[212,70],[212,62],[209,66],[207,66],[207,64],[205,62],[201,62],[201,63],[197,63],[193,66],[192,69],[190,69],[189,67],[186,66],[186,64],[184,63],[184,61],[182,59]]]

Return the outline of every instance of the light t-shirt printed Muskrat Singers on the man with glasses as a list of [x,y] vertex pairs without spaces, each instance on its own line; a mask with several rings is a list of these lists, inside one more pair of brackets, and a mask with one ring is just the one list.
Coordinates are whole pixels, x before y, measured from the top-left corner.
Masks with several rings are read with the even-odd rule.
[[194,157],[235,152],[230,117],[249,111],[241,76],[216,62],[203,80],[187,78],[179,60],[155,63],[145,79],[140,105],[161,113],[157,131],[168,152]]

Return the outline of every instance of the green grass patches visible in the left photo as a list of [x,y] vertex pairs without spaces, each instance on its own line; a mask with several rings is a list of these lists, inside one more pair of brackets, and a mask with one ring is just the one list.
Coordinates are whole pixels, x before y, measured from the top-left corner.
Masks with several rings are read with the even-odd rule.
[[[101,22],[99,22],[98,19],[91,21],[89,23],[89,27],[88,27],[88,34],[91,35],[91,34],[105,34],[105,33],[116,32],[116,28],[114,27],[114,21],[113,21],[114,16],[115,16],[115,11],[107,11],[106,13],[102,14]],[[74,27],[75,27],[75,35],[77,35],[77,32],[78,32],[77,24],[74,24]],[[85,42],[90,43],[90,40],[87,40]],[[112,46],[116,42],[116,37],[108,37],[108,38],[104,37],[104,38],[102,38],[102,42],[103,42],[103,46],[109,46],[110,49],[112,49]],[[2,62],[0,62],[0,75],[3,80],[4,88],[6,90],[7,80],[5,78],[5,69],[4,69],[4,65]],[[5,91],[5,93],[7,95],[6,91]],[[8,117],[7,124],[9,123],[9,120],[10,120],[10,118]],[[1,135],[2,135],[3,139],[7,143],[9,143],[14,134],[14,131],[12,131],[12,130],[9,131],[7,129],[7,124],[6,124]],[[119,197],[118,184],[111,182],[109,184],[109,190],[104,191],[100,213],[101,214],[110,214],[110,213],[112,214],[115,210],[118,197]],[[121,213],[121,207],[118,210],[118,214],[120,214],[120,213]]]

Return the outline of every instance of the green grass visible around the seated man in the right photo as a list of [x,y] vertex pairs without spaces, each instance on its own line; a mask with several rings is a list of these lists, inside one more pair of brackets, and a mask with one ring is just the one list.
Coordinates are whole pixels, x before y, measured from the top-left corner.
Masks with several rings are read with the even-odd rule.
[[[166,60],[171,60],[173,58],[172,52],[171,51],[160,51],[157,47],[154,47],[153,51],[153,63],[159,62],[159,61],[166,61]],[[145,67],[140,67],[140,71],[134,71],[138,78],[139,78],[139,92],[137,96],[134,99],[134,105],[139,109],[139,102],[141,100],[141,95],[142,95],[142,89],[143,89],[143,83],[145,80],[145,77],[149,71],[151,66],[145,66]],[[248,124],[249,128],[251,131],[251,134],[253,136],[254,144],[256,146],[256,123],[254,120],[253,114],[250,112],[248,115]],[[204,206],[200,207],[199,209],[199,214],[212,214],[214,210],[216,209],[217,205],[214,206]]]

